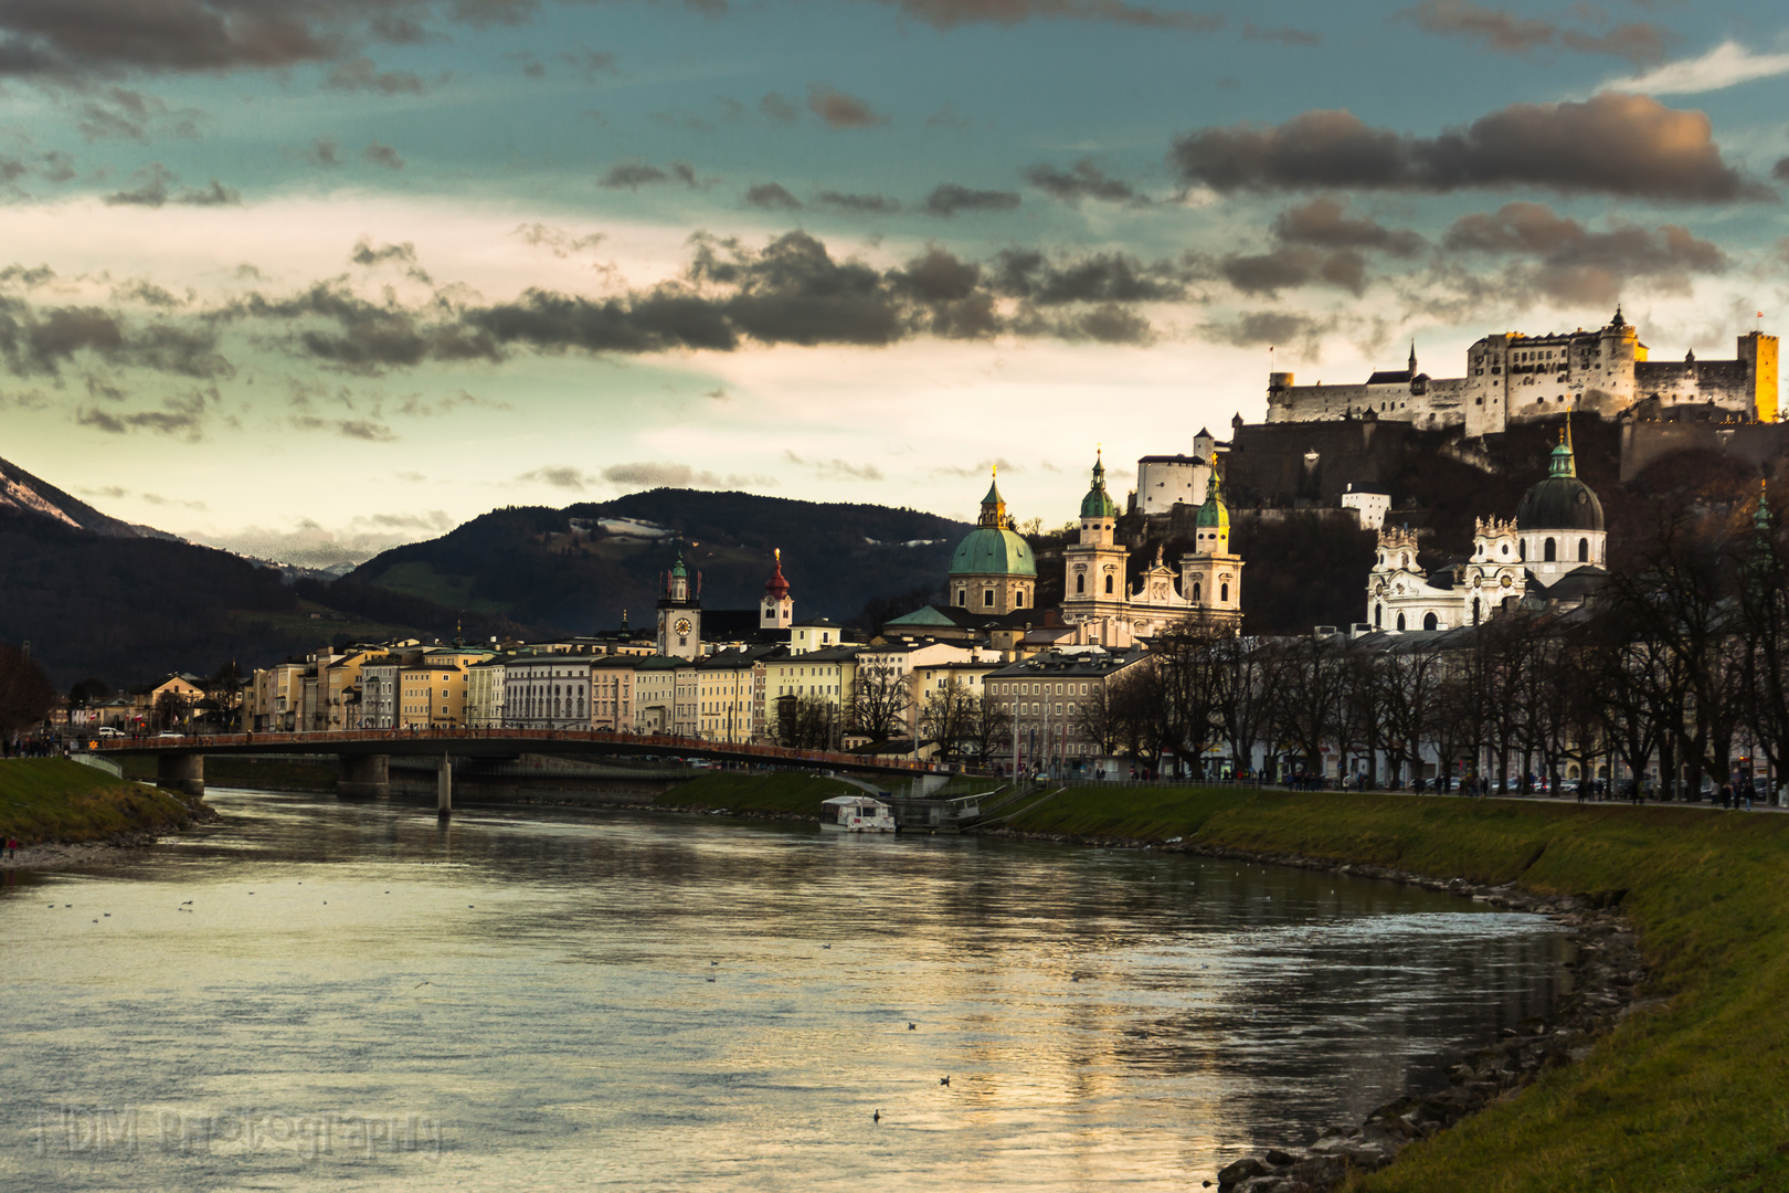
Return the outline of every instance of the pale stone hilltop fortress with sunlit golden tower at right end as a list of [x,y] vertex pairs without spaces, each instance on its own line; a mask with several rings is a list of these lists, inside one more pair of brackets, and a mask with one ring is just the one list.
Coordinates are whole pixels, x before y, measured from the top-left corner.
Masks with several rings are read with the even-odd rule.
[[1621,317],[1599,331],[1528,336],[1505,331],[1467,349],[1463,377],[1429,377],[1406,368],[1379,370],[1365,385],[1293,385],[1290,372],[1268,374],[1268,422],[1378,419],[1420,429],[1462,427],[1467,436],[1496,435],[1512,422],[1535,422],[1573,410],[1615,417],[1642,402],[1660,411],[1703,406],[1734,420],[1776,420],[1776,336],[1739,336],[1735,360],[1648,360],[1639,331]]

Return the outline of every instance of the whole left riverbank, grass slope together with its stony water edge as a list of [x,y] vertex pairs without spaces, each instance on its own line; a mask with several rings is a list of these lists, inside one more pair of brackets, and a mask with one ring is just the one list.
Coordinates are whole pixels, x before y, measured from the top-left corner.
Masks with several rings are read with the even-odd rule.
[[21,846],[18,857],[0,857],[0,867],[91,864],[213,816],[200,800],[113,778],[79,762],[0,762],[0,841],[16,839]]

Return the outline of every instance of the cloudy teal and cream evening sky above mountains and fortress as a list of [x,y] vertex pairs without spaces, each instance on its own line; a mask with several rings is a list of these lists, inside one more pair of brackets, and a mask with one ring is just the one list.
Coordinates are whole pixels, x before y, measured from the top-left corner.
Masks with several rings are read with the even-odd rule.
[[1267,374],[1789,331],[1762,0],[0,0],[0,456],[329,565],[657,485],[1073,517]]

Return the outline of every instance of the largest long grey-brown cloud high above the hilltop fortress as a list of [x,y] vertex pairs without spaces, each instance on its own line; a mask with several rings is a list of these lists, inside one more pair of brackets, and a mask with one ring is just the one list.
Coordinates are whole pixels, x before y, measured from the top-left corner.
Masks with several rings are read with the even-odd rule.
[[1512,104],[1437,138],[1372,129],[1347,111],[1306,111],[1281,125],[1188,132],[1170,161],[1188,184],[1220,193],[1530,184],[1676,202],[1775,197],[1723,161],[1703,113],[1619,93]]

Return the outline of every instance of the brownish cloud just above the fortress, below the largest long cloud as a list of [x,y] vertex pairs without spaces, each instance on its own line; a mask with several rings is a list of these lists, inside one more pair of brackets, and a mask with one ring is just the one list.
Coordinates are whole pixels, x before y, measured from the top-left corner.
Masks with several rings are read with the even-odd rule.
[[1676,224],[1657,229],[1617,225],[1592,233],[1578,220],[1533,202],[1505,204],[1494,213],[1465,215],[1447,229],[1453,252],[1524,259],[1508,281],[1558,302],[1608,302],[1630,277],[1653,288],[1683,292],[1696,274],[1723,274],[1732,265],[1712,241]]

